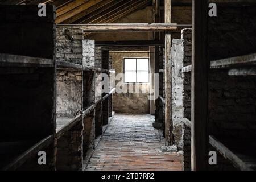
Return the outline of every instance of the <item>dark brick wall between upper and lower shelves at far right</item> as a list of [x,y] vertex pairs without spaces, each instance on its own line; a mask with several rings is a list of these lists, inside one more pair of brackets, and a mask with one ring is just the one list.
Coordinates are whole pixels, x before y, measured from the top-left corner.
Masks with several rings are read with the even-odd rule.
[[209,83],[209,133],[225,138],[256,137],[256,78],[212,70]]

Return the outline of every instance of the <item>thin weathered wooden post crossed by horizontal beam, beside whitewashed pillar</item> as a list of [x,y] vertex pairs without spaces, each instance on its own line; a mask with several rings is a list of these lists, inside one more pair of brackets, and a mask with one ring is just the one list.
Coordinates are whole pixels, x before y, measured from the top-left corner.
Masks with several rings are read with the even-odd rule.
[[[165,23],[171,23],[171,0],[164,1],[164,19]],[[165,138],[166,145],[173,144],[172,135],[172,77],[171,77],[171,32],[166,32],[165,35],[165,89],[166,89],[166,115],[165,115]]]

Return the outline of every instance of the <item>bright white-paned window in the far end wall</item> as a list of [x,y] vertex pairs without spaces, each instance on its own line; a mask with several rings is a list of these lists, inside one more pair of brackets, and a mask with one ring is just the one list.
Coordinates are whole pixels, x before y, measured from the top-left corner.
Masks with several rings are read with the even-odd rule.
[[124,83],[148,83],[148,58],[123,59]]

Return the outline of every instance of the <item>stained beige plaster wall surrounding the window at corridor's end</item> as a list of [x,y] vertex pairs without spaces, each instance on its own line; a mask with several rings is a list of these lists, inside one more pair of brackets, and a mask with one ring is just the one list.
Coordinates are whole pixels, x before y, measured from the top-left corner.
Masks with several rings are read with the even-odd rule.
[[[115,69],[116,75],[118,73],[123,73],[123,57],[149,57],[148,53],[117,53],[110,52],[113,60],[113,69]],[[121,78],[122,80],[122,78]],[[117,86],[119,80],[115,81],[115,86]],[[122,84],[121,88],[127,86],[129,90],[129,85]],[[135,89],[133,86],[130,86]],[[127,114],[148,114],[150,113],[150,100],[148,100],[148,93],[150,90],[150,84],[136,84],[139,87],[140,94],[138,93],[115,93],[113,94],[113,111],[116,113],[127,113]],[[146,90],[146,93],[142,93],[142,90]]]

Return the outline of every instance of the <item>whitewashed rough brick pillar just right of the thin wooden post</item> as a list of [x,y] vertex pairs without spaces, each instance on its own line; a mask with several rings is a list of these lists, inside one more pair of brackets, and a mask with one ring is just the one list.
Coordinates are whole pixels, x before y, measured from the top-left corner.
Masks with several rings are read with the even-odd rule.
[[[188,98],[184,90],[184,75],[182,69],[184,66],[191,64],[191,32],[192,30],[186,28],[181,31],[181,39],[172,40],[171,56],[172,56],[172,121],[174,134],[174,144],[182,149],[183,148],[183,118],[184,118],[184,102]],[[187,89],[187,88],[185,88]]]

